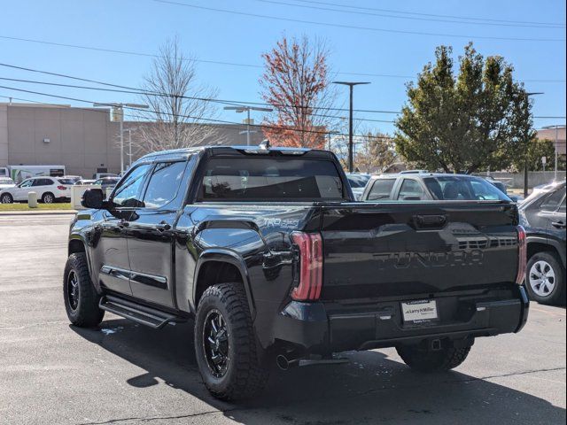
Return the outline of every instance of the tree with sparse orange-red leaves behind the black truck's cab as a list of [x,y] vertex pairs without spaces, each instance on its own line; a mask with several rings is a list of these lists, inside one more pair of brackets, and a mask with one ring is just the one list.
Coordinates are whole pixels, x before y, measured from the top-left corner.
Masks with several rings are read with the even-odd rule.
[[336,118],[329,109],[335,91],[329,81],[327,50],[320,40],[283,38],[262,54],[265,69],[261,96],[274,111],[264,120],[263,132],[279,146],[322,149],[325,134]]

